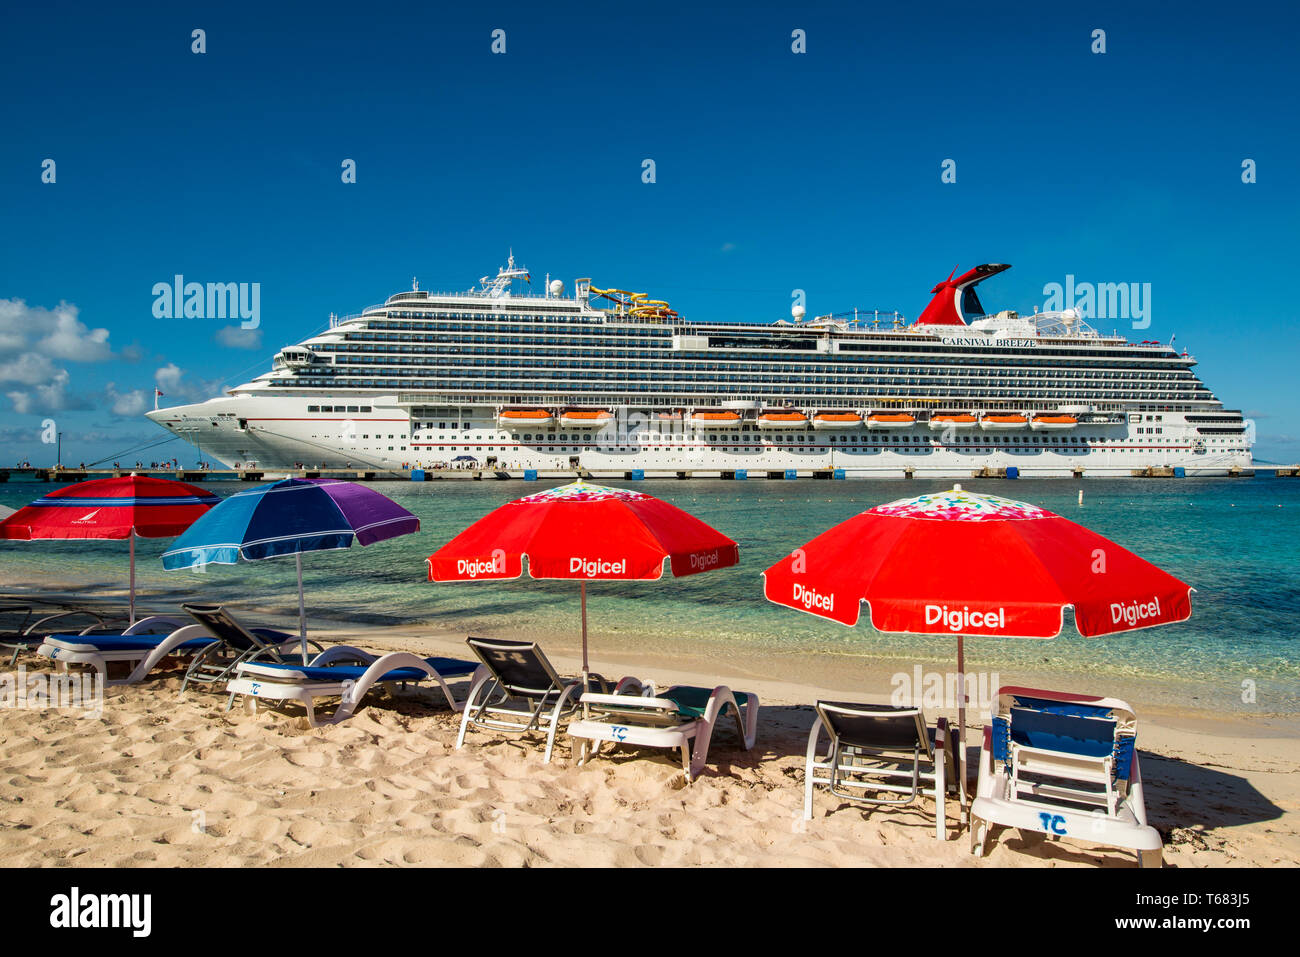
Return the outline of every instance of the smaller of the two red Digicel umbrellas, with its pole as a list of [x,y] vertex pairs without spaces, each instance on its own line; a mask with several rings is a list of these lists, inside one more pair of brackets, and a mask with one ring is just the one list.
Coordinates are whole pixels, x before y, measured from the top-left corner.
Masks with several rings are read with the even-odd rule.
[[654,581],[664,559],[676,577],[727,568],[740,546],[654,495],[584,481],[508,502],[429,555],[430,581],[533,579],[582,583],[582,671],[586,583]]

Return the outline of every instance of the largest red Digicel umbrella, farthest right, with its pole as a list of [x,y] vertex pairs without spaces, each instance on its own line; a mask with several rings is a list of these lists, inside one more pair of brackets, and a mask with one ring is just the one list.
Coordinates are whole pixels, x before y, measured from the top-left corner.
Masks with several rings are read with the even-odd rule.
[[1121,545],[959,485],[841,521],[763,579],[768,601],[840,624],[855,625],[866,602],[878,631],[954,635],[961,676],[965,636],[1053,638],[1067,607],[1086,637],[1192,616],[1192,588]]

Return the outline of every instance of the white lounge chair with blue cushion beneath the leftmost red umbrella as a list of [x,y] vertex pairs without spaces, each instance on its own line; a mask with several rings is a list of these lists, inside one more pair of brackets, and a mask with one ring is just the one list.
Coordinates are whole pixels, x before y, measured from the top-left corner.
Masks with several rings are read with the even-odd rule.
[[[135,684],[169,655],[192,655],[212,644],[212,635],[200,624],[186,624],[172,615],[143,618],[122,632],[103,635],[49,635],[36,654],[56,662],[66,671],[69,664],[84,664],[103,675],[105,685]],[[126,677],[109,679],[108,666],[133,666]]]

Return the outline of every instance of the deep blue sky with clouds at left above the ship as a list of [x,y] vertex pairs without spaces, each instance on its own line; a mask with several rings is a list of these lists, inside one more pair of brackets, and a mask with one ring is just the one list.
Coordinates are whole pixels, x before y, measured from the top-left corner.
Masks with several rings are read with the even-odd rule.
[[[0,462],[51,462],[46,419],[65,462],[165,438],[155,385],[205,398],[332,311],[468,287],[507,247],[693,319],[780,319],[794,289],[915,317],[985,261],[1014,265],[989,308],[1149,282],[1148,329],[1098,325],[1176,334],[1257,455],[1300,459],[1294,8],[702,7],[10,9]],[[156,319],[177,273],[260,282],[260,335]]]

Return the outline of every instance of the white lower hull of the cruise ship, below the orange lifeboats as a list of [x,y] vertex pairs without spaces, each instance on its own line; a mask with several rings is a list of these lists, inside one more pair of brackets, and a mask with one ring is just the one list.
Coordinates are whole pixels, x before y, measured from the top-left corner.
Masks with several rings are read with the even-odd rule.
[[[564,429],[558,423],[526,432],[517,424],[498,425],[495,410],[467,408],[464,420],[424,421],[412,428],[408,411],[395,394],[348,395],[350,403],[369,412],[308,413],[320,397],[228,395],[191,406],[150,412],[162,428],[192,442],[204,459],[229,468],[294,471],[298,468],[356,468],[400,472],[433,468],[472,458],[480,465],[499,468],[619,476],[640,469],[646,473],[692,472],[707,476],[749,473],[812,473],[844,469],[845,477],[897,478],[970,477],[972,472],[994,473],[1015,468],[1026,478],[1070,477],[1082,469],[1088,477],[1128,477],[1148,468],[1180,468],[1188,476],[1226,476],[1248,471],[1248,450],[1200,451],[1195,428],[1162,424],[1164,433],[1148,438],[1130,424],[1080,425],[1078,443],[1061,443],[1060,436],[1019,429],[1017,441],[1008,436],[948,437],[916,424],[907,430],[872,434],[858,429],[853,436],[811,428],[774,433],[755,423],[719,428],[685,426],[680,421],[655,421],[646,410],[611,410],[612,425],[593,430]],[[442,428],[439,428],[439,425]],[[748,428],[748,430],[746,430]],[[1141,426],[1138,426],[1141,428]],[[1071,438],[1075,436],[1071,436]]]

